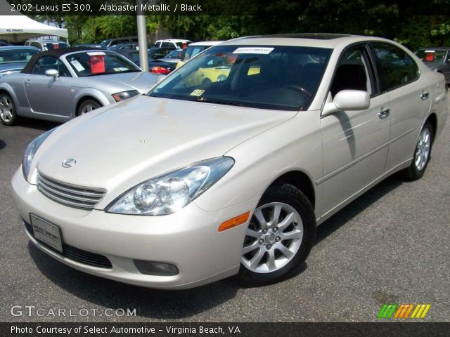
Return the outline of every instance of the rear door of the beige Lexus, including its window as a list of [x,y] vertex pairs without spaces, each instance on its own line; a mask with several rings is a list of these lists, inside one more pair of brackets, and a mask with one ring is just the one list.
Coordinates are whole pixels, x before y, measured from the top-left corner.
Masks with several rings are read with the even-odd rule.
[[386,170],[411,160],[425,116],[431,107],[431,88],[406,51],[388,43],[371,43],[380,91],[391,100],[391,140]]

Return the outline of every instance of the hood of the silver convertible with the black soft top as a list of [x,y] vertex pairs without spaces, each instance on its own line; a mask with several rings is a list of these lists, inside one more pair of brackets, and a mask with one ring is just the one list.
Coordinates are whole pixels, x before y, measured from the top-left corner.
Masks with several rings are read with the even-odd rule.
[[82,88],[96,87],[108,94],[133,89],[140,93],[146,93],[154,84],[156,84],[157,80],[158,75],[149,72],[126,72],[124,74],[80,77],[79,81],[72,81],[72,85]]

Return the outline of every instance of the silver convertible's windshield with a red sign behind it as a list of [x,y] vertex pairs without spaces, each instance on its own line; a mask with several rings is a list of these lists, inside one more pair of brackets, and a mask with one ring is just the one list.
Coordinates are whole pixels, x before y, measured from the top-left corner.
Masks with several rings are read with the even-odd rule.
[[84,51],[67,55],[65,59],[78,77],[141,71],[133,62],[117,53]]

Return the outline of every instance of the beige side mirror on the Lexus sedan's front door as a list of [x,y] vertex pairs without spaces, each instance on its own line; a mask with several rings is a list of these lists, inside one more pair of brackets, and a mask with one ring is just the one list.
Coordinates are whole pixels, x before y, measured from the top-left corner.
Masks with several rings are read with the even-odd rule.
[[367,91],[342,90],[335,95],[333,101],[330,99],[327,101],[325,107],[323,107],[322,116],[333,114],[340,110],[366,110],[370,106],[371,97]]

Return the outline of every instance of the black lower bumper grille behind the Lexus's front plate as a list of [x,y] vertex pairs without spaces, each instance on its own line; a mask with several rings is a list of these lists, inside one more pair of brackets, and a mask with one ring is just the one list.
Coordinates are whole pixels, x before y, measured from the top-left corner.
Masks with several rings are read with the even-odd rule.
[[[27,223],[26,221],[23,222],[25,224],[25,229],[27,232],[30,233],[32,237],[34,237],[34,232],[32,225],[30,223]],[[93,267],[99,267],[99,268],[112,268],[113,265],[111,265],[110,260],[103,255],[92,253],[91,251],[84,251],[83,249],[79,249],[74,246],[70,246],[69,244],[63,243],[63,253],[60,251],[56,251],[56,249],[53,249],[51,246],[46,244],[45,242],[38,241],[39,244],[45,246],[46,248],[50,249],[51,251],[57,253],[58,255],[64,256],[65,258],[68,258],[70,260],[74,260],[78,263],[82,263],[84,265],[91,265]]]

